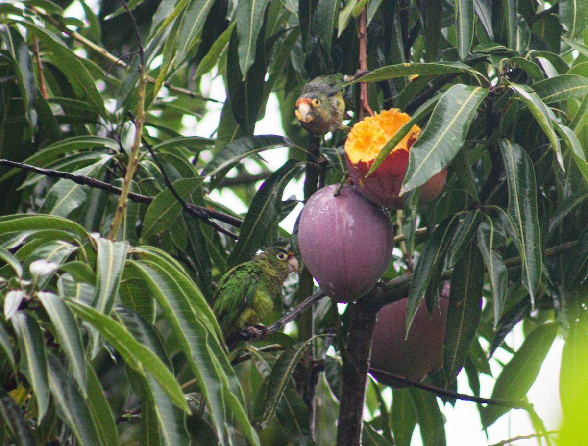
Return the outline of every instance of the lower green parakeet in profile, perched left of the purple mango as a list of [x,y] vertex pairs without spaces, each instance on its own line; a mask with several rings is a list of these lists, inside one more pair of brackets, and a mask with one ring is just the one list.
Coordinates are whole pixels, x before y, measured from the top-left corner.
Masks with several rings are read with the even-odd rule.
[[272,247],[223,275],[213,297],[212,311],[225,340],[246,325],[259,324],[273,310],[273,298],[292,271],[298,271],[294,253]]

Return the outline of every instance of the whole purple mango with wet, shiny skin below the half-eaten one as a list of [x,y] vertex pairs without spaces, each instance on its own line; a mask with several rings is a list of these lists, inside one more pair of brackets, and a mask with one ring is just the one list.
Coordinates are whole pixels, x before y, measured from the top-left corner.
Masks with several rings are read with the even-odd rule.
[[338,302],[362,297],[392,258],[394,228],[388,212],[353,186],[333,184],[309,198],[298,225],[300,254],[323,291]]

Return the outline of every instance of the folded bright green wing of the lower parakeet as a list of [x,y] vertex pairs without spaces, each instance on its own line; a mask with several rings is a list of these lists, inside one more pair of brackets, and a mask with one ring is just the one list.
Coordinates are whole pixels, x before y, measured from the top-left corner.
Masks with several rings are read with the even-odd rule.
[[238,265],[221,279],[212,309],[223,332],[230,331],[231,324],[255,296],[261,273],[259,265],[249,263]]

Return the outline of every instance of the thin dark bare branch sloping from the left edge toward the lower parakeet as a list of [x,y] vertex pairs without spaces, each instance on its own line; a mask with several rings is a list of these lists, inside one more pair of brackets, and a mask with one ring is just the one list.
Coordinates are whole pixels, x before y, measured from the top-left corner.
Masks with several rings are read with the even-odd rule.
[[[37,167],[31,164],[26,164],[24,162],[16,162],[11,161],[10,159],[3,158],[0,158],[0,165],[14,167],[28,172],[35,172],[35,174],[45,175],[45,177],[70,179],[76,184],[81,184],[96,189],[102,189],[103,191],[111,192],[112,194],[120,195],[122,192],[122,189],[119,187],[113,186],[110,183],[101,181],[96,178],[86,177],[85,175],[71,174],[70,172],[46,169],[44,167]],[[145,204],[149,204],[153,201],[153,199],[155,199],[155,197],[152,197],[151,195],[137,194],[136,192],[129,192],[128,198],[131,201],[134,201],[135,203]],[[217,211],[216,209],[206,208],[193,204],[187,204],[187,207],[188,209],[186,209],[186,212],[188,212],[189,215],[203,220],[204,222],[206,222],[206,224],[211,224],[209,218],[222,221],[223,223],[232,225],[236,228],[238,228],[243,223],[241,219],[233,217],[229,214],[225,214],[224,212]],[[236,236],[233,235],[233,237]]]

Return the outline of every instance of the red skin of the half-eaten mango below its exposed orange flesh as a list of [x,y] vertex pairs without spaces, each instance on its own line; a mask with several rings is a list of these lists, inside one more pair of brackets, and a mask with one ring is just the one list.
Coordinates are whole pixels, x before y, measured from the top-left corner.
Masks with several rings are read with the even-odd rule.
[[[400,187],[406,175],[409,152],[403,149],[393,151],[382,164],[366,178],[372,162],[360,161],[353,164],[347,154],[345,161],[349,176],[358,191],[369,201],[390,209],[404,209],[404,197],[399,197]],[[447,168],[443,168],[420,187],[419,205],[433,201],[440,194],[447,179]]]

